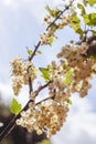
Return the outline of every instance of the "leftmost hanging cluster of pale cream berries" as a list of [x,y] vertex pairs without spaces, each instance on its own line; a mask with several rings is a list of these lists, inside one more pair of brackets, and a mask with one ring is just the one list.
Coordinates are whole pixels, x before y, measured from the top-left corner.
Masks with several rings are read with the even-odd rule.
[[23,84],[29,84],[29,78],[36,79],[36,69],[30,61],[23,62],[20,56],[11,62],[12,66],[12,89],[14,95],[19,95]]

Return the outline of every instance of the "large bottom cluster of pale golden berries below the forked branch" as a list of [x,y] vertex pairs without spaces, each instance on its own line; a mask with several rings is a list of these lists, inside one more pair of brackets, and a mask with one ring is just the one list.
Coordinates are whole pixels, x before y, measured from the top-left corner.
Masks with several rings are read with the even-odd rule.
[[66,105],[60,105],[54,100],[42,102],[35,106],[29,103],[29,109],[21,113],[17,124],[26,127],[29,132],[35,130],[38,135],[46,132],[50,137],[60,131],[66,121],[67,112]]

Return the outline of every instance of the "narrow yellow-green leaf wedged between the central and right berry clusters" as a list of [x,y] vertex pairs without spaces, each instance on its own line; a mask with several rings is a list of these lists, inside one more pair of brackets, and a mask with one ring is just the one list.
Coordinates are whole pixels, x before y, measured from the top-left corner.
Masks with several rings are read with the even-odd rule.
[[64,84],[66,86],[71,85],[71,83],[72,83],[72,74],[73,74],[73,72],[72,72],[71,68],[68,66],[66,74],[65,74],[65,81],[64,81]]

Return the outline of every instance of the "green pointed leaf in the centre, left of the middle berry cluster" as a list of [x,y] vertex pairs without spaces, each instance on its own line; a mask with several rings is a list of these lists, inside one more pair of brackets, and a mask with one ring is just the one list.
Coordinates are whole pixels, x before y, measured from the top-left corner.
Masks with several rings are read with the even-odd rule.
[[49,82],[50,81],[49,68],[40,68],[40,71],[41,71],[42,78],[45,80],[45,82]]

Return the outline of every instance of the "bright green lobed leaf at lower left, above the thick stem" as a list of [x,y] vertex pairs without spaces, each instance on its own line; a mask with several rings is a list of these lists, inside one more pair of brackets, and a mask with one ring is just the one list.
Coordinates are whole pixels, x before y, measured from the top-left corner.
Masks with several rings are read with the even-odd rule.
[[21,104],[19,104],[15,99],[12,99],[10,111],[15,115],[18,115],[21,111]]

